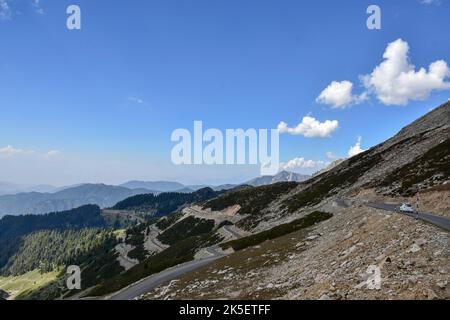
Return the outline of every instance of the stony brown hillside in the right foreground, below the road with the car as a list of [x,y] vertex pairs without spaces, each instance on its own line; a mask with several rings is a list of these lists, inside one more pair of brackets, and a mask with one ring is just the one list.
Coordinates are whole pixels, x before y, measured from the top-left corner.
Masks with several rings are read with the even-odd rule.
[[145,299],[450,299],[449,233],[355,204],[225,257]]

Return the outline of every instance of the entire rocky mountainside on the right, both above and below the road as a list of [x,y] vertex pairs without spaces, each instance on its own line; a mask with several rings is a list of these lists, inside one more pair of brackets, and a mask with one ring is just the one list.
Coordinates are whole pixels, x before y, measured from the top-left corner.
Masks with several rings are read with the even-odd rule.
[[449,140],[446,103],[306,182],[269,186],[269,197],[259,197],[264,192],[256,188],[205,203],[204,214],[238,206],[235,214],[251,223],[236,226],[250,235],[314,210],[333,217],[239,250],[144,299],[449,299],[448,231],[367,206],[419,195],[428,211],[449,216]]

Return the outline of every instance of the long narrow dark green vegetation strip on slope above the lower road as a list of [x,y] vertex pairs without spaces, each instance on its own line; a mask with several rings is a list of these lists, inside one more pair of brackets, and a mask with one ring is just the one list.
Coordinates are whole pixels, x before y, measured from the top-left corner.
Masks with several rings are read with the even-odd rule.
[[295,231],[299,231],[310,226],[315,225],[321,221],[328,220],[333,215],[327,212],[315,211],[307,216],[292,221],[290,223],[276,226],[270,230],[263,231],[245,238],[226,242],[221,245],[222,249],[233,248],[235,251],[243,250],[248,247],[256,246],[264,241],[272,240],[290,234]]

